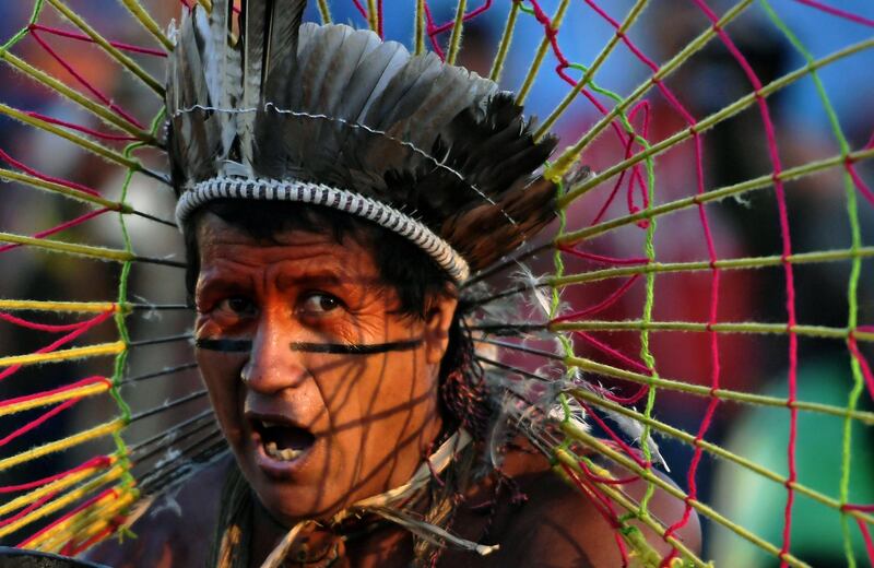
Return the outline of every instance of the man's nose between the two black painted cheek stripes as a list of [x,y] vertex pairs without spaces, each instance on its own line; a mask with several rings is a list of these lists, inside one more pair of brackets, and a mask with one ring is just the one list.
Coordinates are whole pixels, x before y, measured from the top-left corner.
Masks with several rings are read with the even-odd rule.
[[262,315],[249,359],[240,377],[246,387],[261,394],[274,394],[298,387],[307,377],[303,353],[290,345],[297,335],[296,326],[276,312]]

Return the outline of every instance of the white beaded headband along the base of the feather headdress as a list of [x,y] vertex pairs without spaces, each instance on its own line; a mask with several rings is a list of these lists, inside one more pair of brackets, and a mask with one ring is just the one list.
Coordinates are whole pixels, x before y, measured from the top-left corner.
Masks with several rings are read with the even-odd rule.
[[415,244],[460,284],[470,267],[449,242],[415,218],[374,199],[323,184],[243,177],[215,177],[191,185],[176,204],[179,226],[202,204],[215,199],[291,201],[323,205],[373,221]]

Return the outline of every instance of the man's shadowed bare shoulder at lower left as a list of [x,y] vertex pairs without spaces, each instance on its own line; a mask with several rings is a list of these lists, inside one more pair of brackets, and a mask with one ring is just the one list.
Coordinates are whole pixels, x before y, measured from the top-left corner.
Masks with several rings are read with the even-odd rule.
[[206,465],[156,497],[131,526],[134,536],[108,539],[86,558],[113,568],[205,566],[231,459]]

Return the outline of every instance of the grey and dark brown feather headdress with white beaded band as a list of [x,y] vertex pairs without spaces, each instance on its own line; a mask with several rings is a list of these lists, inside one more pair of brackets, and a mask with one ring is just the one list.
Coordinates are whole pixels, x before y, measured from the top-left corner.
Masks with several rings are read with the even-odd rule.
[[[535,142],[509,93],[434,54],[346,25],[302,24],[306,2],[194,9],[166,94],[185,222],[218,198],[342,209],[394,230],[456,281],[553,217]],[[483,235],[488,235],[484,239]]]

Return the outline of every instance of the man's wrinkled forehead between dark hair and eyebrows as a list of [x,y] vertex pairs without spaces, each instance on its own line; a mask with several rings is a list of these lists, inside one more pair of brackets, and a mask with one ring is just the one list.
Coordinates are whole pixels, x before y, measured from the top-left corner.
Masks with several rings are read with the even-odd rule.
[[280,263],[285,269],[318,268],[369,282],[379,276],[371,248],[354,233],[338,242],[328,232],[290,229],[280,230],[267,240],[212,213],[198,220],[196,230],[201,272],[227,263],[239,268]]

